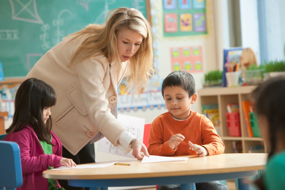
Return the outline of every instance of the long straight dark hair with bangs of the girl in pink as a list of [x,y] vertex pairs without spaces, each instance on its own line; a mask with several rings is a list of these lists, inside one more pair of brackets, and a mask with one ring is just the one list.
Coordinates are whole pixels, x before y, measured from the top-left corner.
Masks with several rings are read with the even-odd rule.
[[25,80],[15,96],[15,113],[13,122],[6,133],[22,130],[26,125],[30,125],[41,141],[53,145],[50,142],[50,131],[52,127],[51,116],[44,123],[43,109],[56,104],[56,93],[47,83],[37,78]]

